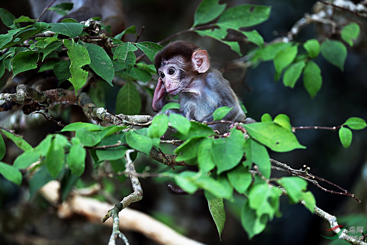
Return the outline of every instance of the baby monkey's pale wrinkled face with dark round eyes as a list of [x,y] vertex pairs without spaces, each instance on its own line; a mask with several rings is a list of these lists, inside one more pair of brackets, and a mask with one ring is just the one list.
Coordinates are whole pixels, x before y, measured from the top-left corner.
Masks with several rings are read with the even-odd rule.
[[164,83],[167,93],[176,95],[182,90],[179,73],[180,71],[177,67],[172,64],[167,64],[159,68],[159,79]]

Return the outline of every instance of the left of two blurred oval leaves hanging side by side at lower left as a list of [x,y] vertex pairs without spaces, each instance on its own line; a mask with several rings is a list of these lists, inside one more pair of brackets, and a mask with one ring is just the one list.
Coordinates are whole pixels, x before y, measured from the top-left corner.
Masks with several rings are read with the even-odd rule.
[[66,146],[68,140],[61,134],[55,134],[51,145],[48,148],[46,157],[44,159],[47,170],[51,176],[56,178],[65,165],[65,155],[63,147]]

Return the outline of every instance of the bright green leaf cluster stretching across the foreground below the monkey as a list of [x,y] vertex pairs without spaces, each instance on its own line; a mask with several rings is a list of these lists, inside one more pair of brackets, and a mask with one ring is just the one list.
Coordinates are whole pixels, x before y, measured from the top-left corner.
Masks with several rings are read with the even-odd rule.
[[[178,106],[167,104],[164,110]],[[229,111],[228,107],[219,108],[214,114],[215,120],[221,120]],[[197,165],[199,171],[183,171],[178,174],[167,172],[161,176],[175,179],[177,184],[189,193],[194,193],[199,188],[204,189],[219,234],[225,222],[223,198],[233,200],[234,190],[248,197],[243,205],[241,220],[249,236],[264,230],[268,220],[279,214],[281,194],[279,188],[269,188],[268,182],[265,181],[270,178],[270,161],[266,147],[279,152],[305,148],[292,133],[286,115],[278,115],[271,120],[266,114],[262,122],[245,125],[251,136],[247,140],[242,131],[237,129],[232,129],[229,137],[218,137],[207,125],[188,121],[178,114],[157,115],[148,128],[137,130],[127,126],[102,127],[90,123],[72,123],[61,132],[74,131],[75,137],[68,139],[62,134],[50,134],[34,148],[21,137],[2,130],[2,133],[24,152],[15,159],[12,166],[0,162],[0,172],[8,180],[21,184],[21,169],[29,169],[30,172],[36,168],[41,169],[30,180],[30,190],[33,193],[52,179],[61,176],[65,178],[66,168],[70,169],[71,175],[68,175],[69,182],[64,182],[69,183],[71,188],[70,181],[75,181],[76,177],[84,172],[87,149],[95,166],[109,161],[115,172],[124,171],[125,152],[135,149],[149,155],[152,147],[160,148],[160,138],[166,133],[168,122],[177,129],[174,136],[185,141],[175,149],[178,155],[176,161]],[[5,154],[2,138],[0,149],[1,159]],[[249,170],[253,164],[258,166],[258,171],[265,180],[255,176],[255,183],[251,185],[252,176]],[[300,181],[302,183],[299,183]],[[278,183],[286,188],[288,193],[294,193],[294,196],[290,195],[292,202],[303,199],[313,211],[315,199],[310,192],[305,192],[304,180],[284,177]],[[287,184],[292,188],[288,189]],[[259,203],[261,205],[258,205]],[[252,216],[248,216],[249,213]],[[249,217],[254,219],[249,222]]]

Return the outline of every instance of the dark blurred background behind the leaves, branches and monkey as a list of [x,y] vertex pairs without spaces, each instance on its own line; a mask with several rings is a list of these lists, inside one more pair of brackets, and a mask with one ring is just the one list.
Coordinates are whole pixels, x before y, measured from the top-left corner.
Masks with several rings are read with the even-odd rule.
[[[126,27],[135,25],[137,30],[141,26],[145,26],[140,41],[159,42],[167,36],[190,28],[193,24],[193,14],[199,3],[199,0],[126,0],[123,1],[125,25]],[[312,13],[316,1],[229,0],[220,1],[220,3],[227,3],[228,7],[243,3],[272,6],[270,19],[264,24],[255,26],[255,29],[264,37],[265,42],[270,42],[276,37],[286,35],[292,25],[305,13]],[[31,16],[30,7],[26,1],[1,1],[0,7],[6,8],[16,17],[25,15],[37,18]],[[366,25],[367,19],[363,19],[362,22]],[[0,33],[6,32],[7,29],[1,26]],[[320,26],[312,24],[302,30],[296,40],[304,41],[313,37],[322,37],[323,34]],[[131,40],[129,40],[130,38]],[[127,37],[129,41],[134,41],[134,39],[133,36]],[[224,68],[226,62],[239,58],[224,44],[210,38],[199,37],[195,33],[185,34],[178,39],[196,43],[206,49],[211,55],[214,66],[219,69]],[[241,44],[243,53],[252,47],[251,44]],[[320,55],[316,62],[321,67],[323,86],[313,99],[309,97],[302,81],[298,81],[294,89],[285,87],[281,81],[276,83],[274,81],[274,67],[271,62],[264,62],[255,68],[248,69],[245,76],[241,76],[242,71],[239,69],[226,69],[224,76],[241,97],[248,110],[247,115],[255,120],[259,121],[264,113],[269,113],[273,118],[284,113],[290,117],[292,126],[338,126],[352,116],[367,119],[366,47],[366,45],[362,45],[348,50],[344,72],[326,62]],[[115,93],[117,93],[118,89],[113,89],[116,89]],[[107,105],[113,107],[114,97],[111,96],[110,99],[111,101],[107,101]],[[113,108],[107,108],[113,110]],[[357,203],[351,197],[330,194],[310,184],[309,190],[315,195],[316,205],[321,209],[337,217],[351,214],[366,217],[367,130],[353,131],[352,145],[348,149],[342,147],[338,133],[334,131],[299,130],[296,132],[296,136],[307,149],[282,154],[270,152],[270,157],[286,163],[294,169],[307,165],[311,168],[311,173],[345,188],[362,201]],[[28,137],[26,140],[34,139],[32,135]],[[160,163],[139,157],[138,172],[142,171],[147,164],[152,168],[152,172],[167,170]],[[283,174],[273,173],[273,177],[278,176],[283,176]],[[237,219],[242,202],[239,201],[238,204],[237,202],[226,202],[227,221],[222,233],[222,241],[219,241],[217,228],[211,219],[208,204],[202,193],[189,197],[172,197],[165,192],[163,180],[148,178],[141,179],[141,183],[144,197],[141,202],[130,205],[131,208],[146,212],[188,237],[206,244],[327,244],[330,240],[321,237],[320,234],[330,237],[334,235],[325,231],[325,229],[330,228],[326,221],[312,215],[302,205],[290,204],[288,198],[282,197],[280,209],[283,216],[275,218],[268,224],[263,233],[251,241],[248,240],[247,234]],[[330,185],[323,184],[323,186],[335,190]],[[124,183],[119,185],[119,188],[120,190],[115,190],[118,193],[117,199],[129,194],[131,184]],[[58,240],[55,244],[107,244],[110,228],[96,228],[84,224],[81,220],[57,220],[52,209],[45,209],[44,206],[47,205],[42,201],[38,201],[37,205],[36,203],[29,204],[28,208],[33,213],[29,210],[22,210],[28,212],[29,217],[22,222],[23,226],[16,226],[19,224],[9,219],[6,214],[10,212],[9,210],[14,210],[14,206],[17,205],[16,197],[19,192],[21,190],[18,190],[17,187],[1,179],[0,238],[8,237],[6,236],[8,232],[23,229],[24,234],[56,237]],[[45,210],[49,212],[45,213]],[[37,221],[32,220],[32,217],[37,217]],[[52,222],[47,223],[45,220]],[[357,226],[357,223],[353,223],[353,219],[349,219],[349,222],[349,224],[339,224]],[[364,233],[366,233],[366,223],[363,226]],[[44,230],[40,227],[43,227]],[[47,232],[46,227],[51,231]],[[56,236],[55,230],[58,231]],[[82,234],[79,234],[80,232]],[[1,233],[3,234],[1,235]],[[131,244],[154,244],[140,234],[126,233],[126,235]],[[8,241],[6,244],[12,244],[10,240],[5,241]],[[339,241],[338,244],[342,244],[342,241]]]

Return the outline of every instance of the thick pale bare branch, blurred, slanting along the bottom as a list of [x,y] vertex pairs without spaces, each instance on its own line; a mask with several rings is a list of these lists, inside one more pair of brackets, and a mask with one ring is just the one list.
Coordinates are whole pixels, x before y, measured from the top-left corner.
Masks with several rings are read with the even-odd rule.
[[[85,219],[94,224],[101,224],[101,217],[105,215],[106,210],[111,208],[111,204],[98,201],[95,198],[85,197],[79,191],[72,191],[71,195],[63,202],[58,203],[59,190],[61,184],[57,180],[52,180],[40,189],[40,194],[50,203],[57,207],[57,214],[61,219],[72,219],[73,217],[85,217]],[[149,215],[138,210],[125,208],[119,213],[119,228],[124,231],[134,231],[143,234],[148,239],[161,245],[203,245],[181,234],[178,234],[172,228],[153,219]],[[112,226],[112,220],[103,223],[106,226]]]

